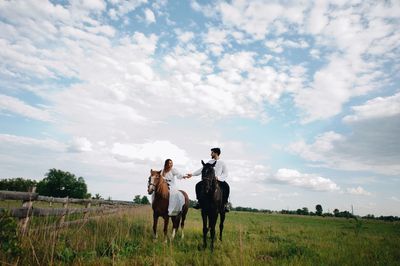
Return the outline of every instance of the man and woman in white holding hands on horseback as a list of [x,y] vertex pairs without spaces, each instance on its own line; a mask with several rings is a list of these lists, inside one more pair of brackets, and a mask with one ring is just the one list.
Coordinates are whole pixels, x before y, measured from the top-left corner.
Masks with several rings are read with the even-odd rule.
[[[216,162],[214,166],[215,170],[215,177],[218,180],[219,186],[222,189],[222,201],[225,206],[225,212],[229,212],[227,203],[228,203],[228,197],[229,197],[229,185],[226,182],[226,179],[228,177],[228,169],[226,168],[226,165],[223,161],[219,159],[221,155],[221,149],[220,148],[212,148],[211,149],[211,160],[208,161],[208,163],[214,163]],[[174,206],[176,206],[176,201],[178,200],[176,195],[178,194],[178,189],[176,187],[175,180],[177,179],[182,179],[182,178],[191,178],[192,176],[199,176],[201,175],[201,170],[203,168],[200,168],[193,173],[188,173],[185,176],[182,175],[176,168],[173,167],[174,163],[172,162],[171,159],[165,160],[164,163],[164,169],[161,172],[161,175],[164,176],[165,181],[167,181],[169,189],[170,189],[170,198],[169,198],[169,207],[168,207],[168,214],[170,216],[174,215]],[[200,209],[200,202],[199,202],[199,195],[202,189],[203,181],[200,181],[196,184],[196,198],[197,198],[197,205],[194,206],[195,209]]]

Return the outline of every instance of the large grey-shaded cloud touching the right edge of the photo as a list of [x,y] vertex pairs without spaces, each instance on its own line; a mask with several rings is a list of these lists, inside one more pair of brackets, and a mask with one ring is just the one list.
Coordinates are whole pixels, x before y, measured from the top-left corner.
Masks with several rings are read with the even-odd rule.
[[[390,107],[389,102],[393,98],[387,99],[390,99]],[[376,102],[380,101],[372,100],[368,105],[363,105],[366,108],[361,110],[368,110],[370,106],[373,109]],[[309,144],[304,140],[290,144],[289,151],[306,160],[321,162],[320,166],[334,169],[372,171],[385,175],[400,173],[400,115],[363,115],[362,119],[351,119],[348,125],[351,132],[347,134],[326,132]]]

